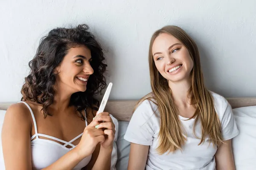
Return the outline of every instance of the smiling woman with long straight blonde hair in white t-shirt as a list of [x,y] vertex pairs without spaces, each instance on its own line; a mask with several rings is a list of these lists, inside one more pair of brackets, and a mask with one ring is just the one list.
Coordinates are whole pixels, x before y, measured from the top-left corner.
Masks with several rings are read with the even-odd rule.
[[232,108],[204,85],[198,47],[177,26],[157,30],[149,46],[152,92],[135,108],[125,139],[128,170],[234,170]]

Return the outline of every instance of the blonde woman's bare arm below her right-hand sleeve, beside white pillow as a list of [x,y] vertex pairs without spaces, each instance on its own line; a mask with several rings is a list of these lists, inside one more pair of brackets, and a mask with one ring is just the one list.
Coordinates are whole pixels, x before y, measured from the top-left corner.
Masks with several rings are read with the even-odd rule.
[[231,139],[224,141],[215,153],[216,169],[217,170],[235,170],[233,159]]

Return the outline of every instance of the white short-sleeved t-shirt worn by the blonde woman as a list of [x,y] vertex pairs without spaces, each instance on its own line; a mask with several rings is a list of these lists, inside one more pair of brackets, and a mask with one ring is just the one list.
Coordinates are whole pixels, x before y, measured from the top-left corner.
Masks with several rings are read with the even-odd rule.
[[[212,93],[212,96],[215,111],[221,121],[223,139],[232,139],[239,134],[232,108],[224,97],[215,93]],[[187,133],[186,144],[182,152],[176,150],[175,153],[157,154],[160,113],[157,105],[149,100],[143,101],[134,112],[124,138],[132,143],[149,145],[146,170],[215,170],[214,155],[217,147],[214,147],[212,143],[209,144],[207,136],[204,144],[198,146],[201,139],[193,135],[195,119],[186,120],[187,118],[179,117]],[[195,125],[195,134],[201,138],[200,120]]]

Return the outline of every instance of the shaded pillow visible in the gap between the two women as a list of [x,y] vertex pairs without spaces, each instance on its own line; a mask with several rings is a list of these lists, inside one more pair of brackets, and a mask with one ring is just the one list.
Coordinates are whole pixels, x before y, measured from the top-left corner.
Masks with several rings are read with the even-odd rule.
[[128,124],[129,122],[119,121],[118,138],[116,141],[118,156],[116,162],[116,170],[127,170],[128,167],[130,142],[124,139]]

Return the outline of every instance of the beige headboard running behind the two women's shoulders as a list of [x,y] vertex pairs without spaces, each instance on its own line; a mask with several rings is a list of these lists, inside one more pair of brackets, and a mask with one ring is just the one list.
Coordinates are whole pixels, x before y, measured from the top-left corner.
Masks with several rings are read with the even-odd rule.
[[[227,98],[232,108],[256,105],[256,97],[248,98]],[[130,121],[132,111],[137,100],[110,100],[108,101],[105,111],[111,113],[119,121]],[[6,110],[13,103],[0,103],[0,110]]]

